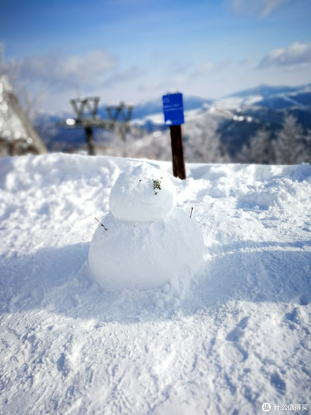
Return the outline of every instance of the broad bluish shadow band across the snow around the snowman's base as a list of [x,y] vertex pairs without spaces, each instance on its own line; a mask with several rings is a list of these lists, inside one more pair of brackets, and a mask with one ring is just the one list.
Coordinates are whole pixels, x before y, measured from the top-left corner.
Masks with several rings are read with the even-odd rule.
[[[159,288],[107,293],[88,275],[89,243],[39,249],[29,256],[0,257],[0,301],[3,311],[46,309],[72,318],[137,321],[170,318],[177,308],[184,315],[228,300],[311,301],[311,241],[253,242],[224,245],[224,252],[208,261],[191,289],[164,307],[155,306]],[[175,297],[178,294],[174,294]],[[174,295],[171,300],[176,300]]]

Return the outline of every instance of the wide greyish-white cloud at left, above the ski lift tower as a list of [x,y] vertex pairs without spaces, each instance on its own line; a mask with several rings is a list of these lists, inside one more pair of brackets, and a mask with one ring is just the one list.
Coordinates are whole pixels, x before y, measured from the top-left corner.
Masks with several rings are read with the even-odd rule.
[[98,77],[116,67],[116,60],[102,49],[84,56],[61,56],[55,52],[24,58],[21,67],[23,78],[39,80],[50,85],[71,88],[75,85],[94,85]]

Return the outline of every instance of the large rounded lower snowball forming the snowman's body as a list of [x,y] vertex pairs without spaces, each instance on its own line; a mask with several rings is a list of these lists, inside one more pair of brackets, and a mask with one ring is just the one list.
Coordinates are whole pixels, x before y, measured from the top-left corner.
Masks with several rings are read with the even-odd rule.
[[89,264],[107,291],[161,287],[201,265],[202,231],[184,210],[175,207],[164,219],[135,227],[118,222],[111,212],[103,221],[108,230],[97,227]]

